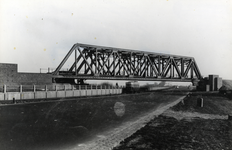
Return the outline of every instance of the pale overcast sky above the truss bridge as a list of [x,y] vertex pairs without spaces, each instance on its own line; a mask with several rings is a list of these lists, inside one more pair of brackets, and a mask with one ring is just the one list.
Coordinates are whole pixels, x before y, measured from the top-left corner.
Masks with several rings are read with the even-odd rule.
[[191,56],[232,79],[232,2],[0,0],[0,62],[56,68],[75,43]]

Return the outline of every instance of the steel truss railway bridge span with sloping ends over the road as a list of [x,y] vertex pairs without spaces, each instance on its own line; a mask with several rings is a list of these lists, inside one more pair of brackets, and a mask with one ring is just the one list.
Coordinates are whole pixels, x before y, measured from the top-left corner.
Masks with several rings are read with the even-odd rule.
[[[74,56],[74,58],[70,58]],[[72,65],[62,70],[67,61]],[[193,57],[76,43],[53,72],[54,82],[137,80],[197,82],[201,73]]]

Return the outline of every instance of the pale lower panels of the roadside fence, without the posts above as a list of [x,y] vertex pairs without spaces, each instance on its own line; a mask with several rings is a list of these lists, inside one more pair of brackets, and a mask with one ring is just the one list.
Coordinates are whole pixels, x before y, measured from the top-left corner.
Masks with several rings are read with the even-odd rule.
[[86,89],[64,91],[6,92],[0,93],[0,100],[49,99],[81,96],[121,94],[122,89]]

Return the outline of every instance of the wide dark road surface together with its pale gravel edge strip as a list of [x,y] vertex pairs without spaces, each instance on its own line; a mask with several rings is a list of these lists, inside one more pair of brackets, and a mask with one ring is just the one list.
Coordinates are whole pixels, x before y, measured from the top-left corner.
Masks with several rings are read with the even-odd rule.
[[113,148],[155,117],[151,113],[161,114],[184,95],[147,92],[1,105],[1,149]]

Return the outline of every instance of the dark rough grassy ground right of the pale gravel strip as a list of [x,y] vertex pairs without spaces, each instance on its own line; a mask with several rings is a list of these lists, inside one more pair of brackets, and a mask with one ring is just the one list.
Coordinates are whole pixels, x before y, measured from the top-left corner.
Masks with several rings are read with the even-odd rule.
[[[202,104],[199,105],[201,98]],[[232,100],[217,93],[188,95],[120,142],[121,149],[232,149]]]

